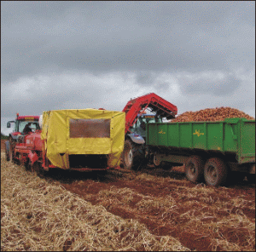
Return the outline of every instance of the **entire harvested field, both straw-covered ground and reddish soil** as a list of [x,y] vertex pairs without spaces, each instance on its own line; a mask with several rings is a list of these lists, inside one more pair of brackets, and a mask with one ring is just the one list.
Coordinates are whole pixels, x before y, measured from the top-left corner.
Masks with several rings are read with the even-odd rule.
[[255,184],[183,168],[35,175],[1,153],[1,250],[255,250]]

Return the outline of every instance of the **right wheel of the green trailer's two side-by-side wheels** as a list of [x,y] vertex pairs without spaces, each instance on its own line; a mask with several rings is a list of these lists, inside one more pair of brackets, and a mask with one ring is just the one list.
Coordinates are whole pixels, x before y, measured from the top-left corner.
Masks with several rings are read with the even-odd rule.
[[220,158],[209,158],[204,176],[208,186],[223,186],[228,175],[228,167]]

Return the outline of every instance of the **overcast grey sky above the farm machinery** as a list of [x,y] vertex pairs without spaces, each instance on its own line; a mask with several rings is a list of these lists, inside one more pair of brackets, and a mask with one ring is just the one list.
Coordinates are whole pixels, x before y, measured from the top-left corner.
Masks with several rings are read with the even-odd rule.
[[255,117],[255,3],[1,1],[1,132],[20,115],[122,111],[154,92],[178,114]]

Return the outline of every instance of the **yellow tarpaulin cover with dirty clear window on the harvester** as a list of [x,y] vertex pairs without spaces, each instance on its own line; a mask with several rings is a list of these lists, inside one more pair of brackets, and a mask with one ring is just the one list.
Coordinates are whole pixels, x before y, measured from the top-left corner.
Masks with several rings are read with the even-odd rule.
[[69,169],[68,155],[105,154],[108,166],[119,166],[125,141],[125,112],[69,109],[43,113],[41,139],[46,157],[55,166]]

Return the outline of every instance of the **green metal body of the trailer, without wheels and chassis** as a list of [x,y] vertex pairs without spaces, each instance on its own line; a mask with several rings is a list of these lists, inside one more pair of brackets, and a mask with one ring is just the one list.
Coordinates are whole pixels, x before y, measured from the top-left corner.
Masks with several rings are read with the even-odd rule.
[[238,163],[255,162],[255,120],[231,118],[222,122],[149,123],[149,146],[207,152],[232,152]]

